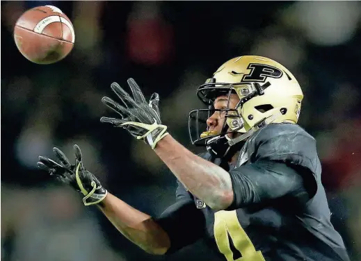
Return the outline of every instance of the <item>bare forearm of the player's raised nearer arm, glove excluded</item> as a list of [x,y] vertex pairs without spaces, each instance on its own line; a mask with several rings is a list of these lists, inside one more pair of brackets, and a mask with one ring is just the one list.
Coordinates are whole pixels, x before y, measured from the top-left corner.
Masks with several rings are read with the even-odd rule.
[[221,167],[188,151],[170,135],[157,143],[155,152],[178,180],[210,208],[221,210],[232,203],[232,181]]

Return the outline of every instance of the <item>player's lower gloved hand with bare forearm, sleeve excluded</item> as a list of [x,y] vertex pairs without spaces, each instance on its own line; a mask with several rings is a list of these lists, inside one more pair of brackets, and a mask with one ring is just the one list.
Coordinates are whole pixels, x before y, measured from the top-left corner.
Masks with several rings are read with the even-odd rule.
[[56,180],[70,185],[83,195],[84,205],[97,205],[111,223],[131,242],[153,254],[163,254],[170,248],[167,233],[150,217],[109,194],[99,180],[83,166],[79,146],[74,145],[75,164],[72,165],[58,148],[58,162],[40,156],[38,166]]

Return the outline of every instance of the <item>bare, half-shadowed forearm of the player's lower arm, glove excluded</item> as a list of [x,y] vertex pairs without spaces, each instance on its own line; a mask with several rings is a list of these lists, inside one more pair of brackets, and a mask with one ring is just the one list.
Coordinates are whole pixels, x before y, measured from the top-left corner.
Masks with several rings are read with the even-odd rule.
[[110,193],[99,208],[120,233],[144,251],[161,255],[169,249],[168,235],[148,214],[132,208]]

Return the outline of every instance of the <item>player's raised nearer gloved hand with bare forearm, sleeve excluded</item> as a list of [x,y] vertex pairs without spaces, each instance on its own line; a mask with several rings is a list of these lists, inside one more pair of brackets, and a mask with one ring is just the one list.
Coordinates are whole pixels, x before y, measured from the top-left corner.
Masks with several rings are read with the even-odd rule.
[[232,181],[227,171],[188,151],[168,135],[167,126],[161,124],[157,93],[151,96],[148,103],[140,87],[132,78],[128,80],[128,85],[133,97],[118,83],[111,85],[111,89],[120,98],[122,104],[109,97],[102,99],[106,106],[118,112],[121,117],[102,117],[100,121],[125,128],[138,140],[144,140],[150,144],[177,179],[193,195],[214,210],[224,209],[233,199]]

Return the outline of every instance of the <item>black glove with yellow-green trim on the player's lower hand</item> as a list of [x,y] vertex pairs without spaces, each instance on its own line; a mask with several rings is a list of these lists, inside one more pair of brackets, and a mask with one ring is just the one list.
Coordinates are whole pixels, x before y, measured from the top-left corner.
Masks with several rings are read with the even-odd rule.
[[81,150],[77,144],[74,145],[75,165],[72,165],[63,151],[53,149],[58,162],[39,156],[38,167],[45,169],[51,176],[61,183],[71,185],[75,190],[84,195],[84,205],[94,205],[102,201],[108,193],[100,184],[99,180],[85,169]]

